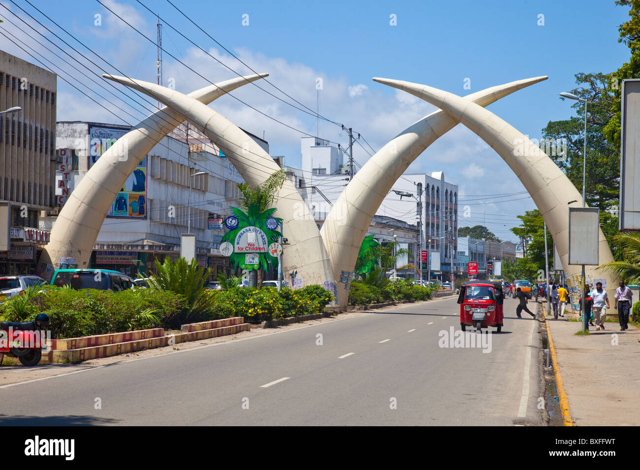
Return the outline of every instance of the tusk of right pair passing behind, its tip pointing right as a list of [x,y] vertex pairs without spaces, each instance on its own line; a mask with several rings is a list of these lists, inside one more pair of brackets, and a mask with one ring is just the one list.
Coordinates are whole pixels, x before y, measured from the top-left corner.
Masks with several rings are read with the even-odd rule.
[[[464,100],[488,106],[510,93],[546,80],[533,77],[486,88]],[[331,258],[333,276],[352,273],[362,239],[385,196],[408,166],[438,137],[458,124],[444,111],[435,111],[417,121],[376,152],[353,176],[327,215],[321,234]],[[349,291],[338,289],[340,306],[346,306]]]

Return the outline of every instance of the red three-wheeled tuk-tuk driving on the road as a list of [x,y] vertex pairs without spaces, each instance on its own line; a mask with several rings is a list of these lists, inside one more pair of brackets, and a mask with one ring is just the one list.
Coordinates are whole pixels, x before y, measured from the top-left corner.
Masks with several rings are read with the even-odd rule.
[[477,330],[495,326],[502,331],[502,304],[504,293],[502,283],[493,281],[466,281],[460,286],[460,327]]

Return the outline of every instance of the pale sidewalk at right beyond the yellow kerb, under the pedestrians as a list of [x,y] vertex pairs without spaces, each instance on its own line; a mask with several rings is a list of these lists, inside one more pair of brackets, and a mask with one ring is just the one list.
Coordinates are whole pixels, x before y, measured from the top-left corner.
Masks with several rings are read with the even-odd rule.
[[591,334],[575,336],[580,322],[546,318],[575,425],[640,425],[640,330],[606,322],[605,331],[589,326]]

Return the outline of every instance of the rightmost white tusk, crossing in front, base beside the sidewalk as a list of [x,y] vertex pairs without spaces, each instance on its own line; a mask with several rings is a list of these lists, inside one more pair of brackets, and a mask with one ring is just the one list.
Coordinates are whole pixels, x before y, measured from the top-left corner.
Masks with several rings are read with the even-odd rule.
[[[569,276],[582,276],[580,266],[568,263],[568,202],[575,200],[577,205],[581,205],[582,194],[545,152],[491,111],[453,93],[406,81],[382,78],[374,78],[374,81],[399,88],[439,107],[491,146],[518,176],[536,203],[554,239],[564,272]],[[598,231],[600,265],[603,265],[614,259],[609,243],[599,226]],[[616,276],[597,271],[595,267],[586,269],[586,275],[591,279],[607,279],[607,290],[611,291],[609,297],[613,298],[612,294],[618,285]]]

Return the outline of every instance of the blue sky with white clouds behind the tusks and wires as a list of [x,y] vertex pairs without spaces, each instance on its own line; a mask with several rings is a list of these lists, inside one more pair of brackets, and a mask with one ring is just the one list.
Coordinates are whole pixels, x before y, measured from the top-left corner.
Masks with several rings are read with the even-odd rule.
[[[26,1],[15,1],[56,33],[64,34]],[[99,3],[29,1],[124,74],[156,81],[155,46]],[[156,18],[140,3],[101,1],[155,40]],[[251,73],[167,1],[141,1],[228,67],[241,74]],[[5,0],[0,3],[26,18],[14,4]],[[255,70],[269,72],[273,84],[312,109],[316,109],[316,77],[321,77],[320,114],[362,132],[376,150],[435,108],[372,82],[372,77],[420,82],[466,95],[495,84],[548,75],[547,81],[488,107],[524,134],[540,138],[541,129],[548,121],[572,114],[571,103],[560,100],[558,93],[575,86],[575,73],[611,72],[628,59],[627,47],[617,42],[618,26],[627,19],[627,8],[615,6],[613,0],[174,3],[227,49]],[[101,26],[95,26],[95,14],[102,15]],[[248,26],[243,26],[245,14]],[[396,15],[397,26],[390,26],[392,14]],[[0,8],[0,15],[0,19],[5,19],[3,27],[15,33],[20,43],[51,56],[33,40],[45,42],[42,38],[33,33],[25,37],[17,31],[12,23],[26,27],[4,8]],[[544,15],[544,26],[538,26],[538,15]],[[35,25],[33,20],[28,20]],[[54,36],[43,32],[62,45]],[[77,46],[68,36],[63,38]],[[163,46],[166,50],[164,82],[173,78],[179,91],[189,92],[208,81],[236,76],[166,24]],[[50,44],[47,47],[52,48]],[[1,36],[0,49],[34,61]],[[88,54],[86,49],[82,52]],[[167,52],[205,78],[177,63]],[[53,60],[61,63],[58,58]],[[105,64],[98,65],[117,73]],[[95,65],[92,67],[102,73]],[[67,74],[88,82],[68,67],[66,72],[60,72],[61,76]],[[463,89],[466,78],[470,79],[470,90]],[[282,97],[269,84],[260,86]],[[97,86],[92,88],[95,91]],[[58,120],[118,121],[60,79],[58,91]],[[131,100],[109,102],[90,91],[87,93],[129,123],[150,111]],[[105,93],[100,90],[100,94],[108,97]],[[285,105],[255,86],[244,86],[234,96],[296,129],[316,134],[316,120],[312,116]],[[134,117],[126,116],[115,104]],[[300,132],[269,120],[232,97],[223,97],[212,107],[254,134],[262,136],[264,132],[272,155],[285,155],[286,164],[300,167]],[[319,134],[332,141],[347,142],[346,134],[331,123],[321,121]],[[369,158],[359,146],[354,154],[360,164]],[[461,217],[461,226],[486,221],[499,237],[515,240],[508,228],[518,224],[516,214],[534,208],[534,204],[531,199],[515,200],[526,194],[499,198],[504,200],[500,203],[483,204],[486,200],[479,199],[478,195],[524,191],[493,150],[460,125],[436,141],[410,167],[414,172],[441,170],[445,171],[447,180],[460,185],[461,201],[465,201],[467,195],[472,208],[468,221]]]

